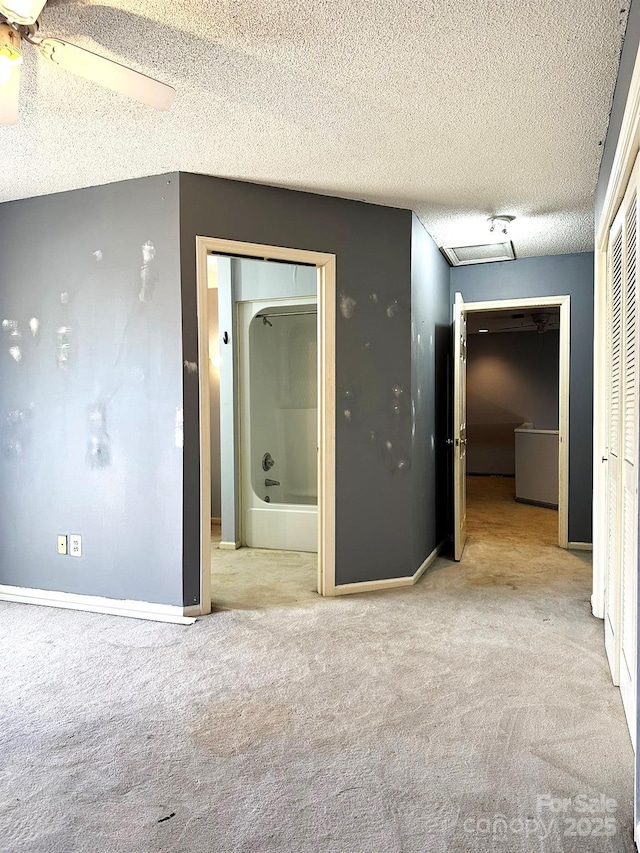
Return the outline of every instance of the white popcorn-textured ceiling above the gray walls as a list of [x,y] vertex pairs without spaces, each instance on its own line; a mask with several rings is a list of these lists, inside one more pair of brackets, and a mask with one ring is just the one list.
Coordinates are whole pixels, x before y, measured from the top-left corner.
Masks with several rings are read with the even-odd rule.
[[410,207],[439,245],[592,248],[627,0],[50,0],[42,33],[177,89],[156,113],[28,49],[0,200],[165,171]]

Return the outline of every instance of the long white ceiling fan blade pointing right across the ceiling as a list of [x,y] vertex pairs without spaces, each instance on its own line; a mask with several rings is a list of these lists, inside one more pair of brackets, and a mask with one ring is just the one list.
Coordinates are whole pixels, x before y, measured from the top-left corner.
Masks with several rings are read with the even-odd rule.
[[168,110],[176,96],[171,86],[68,41],[46,38],[37,44],[56,65],[157,110]]

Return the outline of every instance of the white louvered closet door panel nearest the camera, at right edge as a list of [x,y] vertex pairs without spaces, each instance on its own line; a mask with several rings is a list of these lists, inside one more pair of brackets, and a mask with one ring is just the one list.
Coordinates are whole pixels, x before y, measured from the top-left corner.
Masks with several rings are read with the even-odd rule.
[[[620,571],[620,690],[632,741],[636,728],[636,591],[638,571],[638,168],[623,201],[623,327],[620,467],[622,565]],[[635,743],[634,743],[635,747]]]

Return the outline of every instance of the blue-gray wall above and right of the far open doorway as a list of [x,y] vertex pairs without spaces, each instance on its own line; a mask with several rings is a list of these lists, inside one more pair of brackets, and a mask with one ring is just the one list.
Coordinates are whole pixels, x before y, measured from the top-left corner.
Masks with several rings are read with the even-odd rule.
[[593,254],[551,255],[451,270],[465,302],[571,297],[569,541],[591,542],[593,484]]

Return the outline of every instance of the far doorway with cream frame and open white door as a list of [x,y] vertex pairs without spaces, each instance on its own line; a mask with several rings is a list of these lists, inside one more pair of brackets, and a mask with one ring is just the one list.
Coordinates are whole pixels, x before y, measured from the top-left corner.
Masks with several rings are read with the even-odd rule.
[[[467,538],[468,474],[513,477],[514,500],[545,507],[548,511],[557,508],[557,514],[554,512],[557,515],[555,544],[562,548],[570,547],[569,306],[569,296],[465,304],[462,295],[456,294],[452,444],[454,553],[457,560],[461,559]],[[505,344],[506,336],[512,337],[515,330],[520,330],[516,335],[520,337],[520,332],[524,335],[525,329],[530,335],[528,345],[522,348],[516,359],[515,342]],[[487,350],[485,353],[483,381],[486,387],[475,397],[469,387],[468,375],[470,334],[476,340],[488,340],[491,336],[496,341],[491,352]],[[548,339],[545,338],[547,335]],[[552,337],[555,339],[553,342]],[[546,374],[540,369],[544,361],[548,362]],[[556,365],[554,378],[557,378],[557,383],[549,383],[548,379],[553,370],[552,361]],[[481,373],[477,372],[476,381]],[[512,396],[505,396],[507,379],[512,385]],[[545,382],[553,385],[553,394],[545,394]],[[492,402],[489,397],[497,392],[501,399],[498,403]],[[475,423],[470,420],[470,402],[475,403],[477,410]],[[537,428],[538,425],[541,428]],[[519,476],[516,476],[518,471]]]

